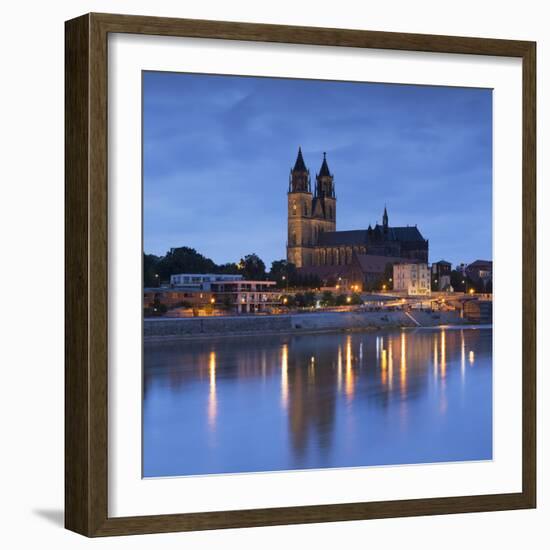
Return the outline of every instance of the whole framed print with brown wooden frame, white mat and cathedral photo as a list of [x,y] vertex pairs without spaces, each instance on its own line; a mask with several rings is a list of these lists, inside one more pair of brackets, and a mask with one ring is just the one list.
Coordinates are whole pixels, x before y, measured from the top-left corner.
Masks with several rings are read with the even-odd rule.
[[66,527],[532,508],[535,44],[66,23]]

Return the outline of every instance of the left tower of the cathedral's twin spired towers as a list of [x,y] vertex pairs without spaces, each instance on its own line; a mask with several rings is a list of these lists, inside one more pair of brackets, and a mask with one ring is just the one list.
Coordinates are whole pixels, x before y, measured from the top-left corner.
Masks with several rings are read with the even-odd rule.
[[286,258],[296,267],[311,265],[312,257],[311,178],[301,147],[288,184],[288,240]]

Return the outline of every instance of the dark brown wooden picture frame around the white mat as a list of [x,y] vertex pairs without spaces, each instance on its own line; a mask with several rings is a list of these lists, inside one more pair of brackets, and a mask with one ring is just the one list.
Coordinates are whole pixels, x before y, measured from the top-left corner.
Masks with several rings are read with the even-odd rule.
[[[108,517],[107,36],[133,33],[520,58],[523,66],[522,491],[463,497]],[[66,23],[65,525],[86,536],[533,508],[536,505],[534,42],[88,14]]]

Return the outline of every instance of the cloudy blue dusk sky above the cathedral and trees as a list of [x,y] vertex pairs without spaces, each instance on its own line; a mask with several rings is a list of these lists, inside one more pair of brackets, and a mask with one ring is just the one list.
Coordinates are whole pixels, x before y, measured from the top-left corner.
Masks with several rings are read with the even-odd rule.
[[289,170],[334,174],[337,229],[418,225],[430,262],[492,259],[492,92],[145,72],[144,249],[284,258]]

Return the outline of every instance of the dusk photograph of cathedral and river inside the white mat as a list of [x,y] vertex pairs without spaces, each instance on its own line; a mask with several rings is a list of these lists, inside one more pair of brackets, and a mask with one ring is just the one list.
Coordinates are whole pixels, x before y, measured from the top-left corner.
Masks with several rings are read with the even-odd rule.
[[493,460],[493,90],[141,75],[143,477]]

